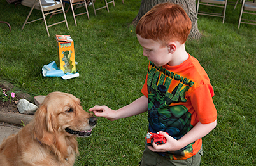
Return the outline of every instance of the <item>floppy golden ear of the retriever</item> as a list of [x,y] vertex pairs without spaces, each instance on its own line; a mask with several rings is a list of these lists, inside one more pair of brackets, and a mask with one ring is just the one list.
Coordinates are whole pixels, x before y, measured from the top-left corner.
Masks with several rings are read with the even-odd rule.
[[55,143],[55,131],[52,126],[53,117],[44,105],[39,106],[34,115],[32,132],[41,143],[52,145]]

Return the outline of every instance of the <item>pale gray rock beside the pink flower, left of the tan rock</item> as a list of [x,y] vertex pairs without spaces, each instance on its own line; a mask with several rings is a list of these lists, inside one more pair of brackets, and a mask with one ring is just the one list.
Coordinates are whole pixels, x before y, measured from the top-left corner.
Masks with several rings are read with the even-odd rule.
[[17,103],[18,112],[23,114],[34,114],[38,109],[38,106],[33,103],[29,103],[26,99],[20,99]]

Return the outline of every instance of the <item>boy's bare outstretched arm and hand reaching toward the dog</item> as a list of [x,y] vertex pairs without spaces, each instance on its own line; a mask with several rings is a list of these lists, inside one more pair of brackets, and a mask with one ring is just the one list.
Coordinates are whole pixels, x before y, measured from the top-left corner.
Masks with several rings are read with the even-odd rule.
[[94,112],[97,117],[105,117],[108,120],[117,120],[120,118],[127,118],[133,115],[146,112],[148,110],[148,98],[141,96],[133,101],[131,104],[124,106],[118,110],[112,110],[108,106],[94,106],[89,109],[89,112]]

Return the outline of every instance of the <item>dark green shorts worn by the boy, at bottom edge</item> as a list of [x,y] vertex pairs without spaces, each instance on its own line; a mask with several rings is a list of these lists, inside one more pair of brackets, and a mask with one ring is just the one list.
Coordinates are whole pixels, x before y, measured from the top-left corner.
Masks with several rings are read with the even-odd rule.
[[143,156],[141,159],[141,166],[169,166],[169,165],[175,165],[175,166],[181,166],[181,165],[191,165],[191,166],[197,166],[200,165],[201,162],[201,156],[203,156],[203,149],[199,150],[199,152],[188,158],[187,160],[171,160],[168,158],[165,158],[163,156],[160,156],[159,154],[151,151],[148,149],[148,147],[145,147],[145,150],[143,152]]

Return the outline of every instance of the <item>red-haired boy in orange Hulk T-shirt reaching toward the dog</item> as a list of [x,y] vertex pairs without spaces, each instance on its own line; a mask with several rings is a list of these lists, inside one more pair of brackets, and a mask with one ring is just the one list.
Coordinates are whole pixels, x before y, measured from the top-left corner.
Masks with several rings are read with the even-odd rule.
[[210,79],[185,50],[190,29],[190,18],[181,6],[154,6],[136,27],[143,55],[150,60],[143,96],[118,110],[89,109],[108,120],[148,111],[148,132],[162,133],[166,143],[146,145],[141,165],[200,165],[201,138],[217,124]]

